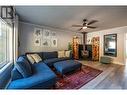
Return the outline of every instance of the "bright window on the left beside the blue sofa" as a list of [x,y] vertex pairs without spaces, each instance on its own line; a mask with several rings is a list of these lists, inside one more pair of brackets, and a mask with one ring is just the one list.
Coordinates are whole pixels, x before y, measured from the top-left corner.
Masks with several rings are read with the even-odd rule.
[[12,61],[12,27],[0,18],[0,68]]

